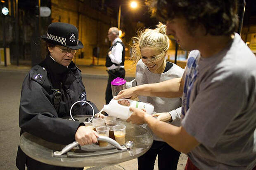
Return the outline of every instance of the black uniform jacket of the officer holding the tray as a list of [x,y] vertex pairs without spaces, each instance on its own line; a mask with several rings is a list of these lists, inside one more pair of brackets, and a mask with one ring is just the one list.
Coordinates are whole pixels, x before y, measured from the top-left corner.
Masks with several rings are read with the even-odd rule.
[[[62,93],[59,112],[53,106],[52,89],[56,88]],[[28,72],[22,84],[20,134],[26,131],[44,140],[64,145],[73,142],[76,130],[82,124],[62,117],[70,115],[71,105],[78,100],[86,100],[81,70],[73,62],[67,68],[47,57]],[[97,107],[88,102],[94,107],[95,113],[98,113]],[[79,102],[73,107],[72,115],[92,115],[92,108],[87,103]],[[24,169],[26,159],[27,156],[18,148],[16,165],[20,170]]]

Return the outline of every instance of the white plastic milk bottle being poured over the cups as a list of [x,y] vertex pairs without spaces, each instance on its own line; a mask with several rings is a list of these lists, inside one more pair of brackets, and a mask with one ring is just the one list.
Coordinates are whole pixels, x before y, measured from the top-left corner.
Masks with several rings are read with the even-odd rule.
[[[130,102],[130,106],[123,106],[118,103],[119,100],[128,100]],[[119,119],[128,119],[132,112],[130,111],[130,107],[135,107],[138,109],[145,109],[147,114],[153,114],[154,112],[154,106],[145,103],[145,102],[138,102],[135,100],[130,99],[119,99],[115,100],[112,99],[108,105],[104,105],[102,111],[106,112],[107,114],[117,117]]]

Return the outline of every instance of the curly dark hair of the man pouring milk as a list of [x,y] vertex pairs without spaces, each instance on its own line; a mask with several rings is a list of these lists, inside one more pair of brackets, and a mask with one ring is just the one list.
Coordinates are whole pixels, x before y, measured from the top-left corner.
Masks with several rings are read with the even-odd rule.
[[230,35],[238,26],[237,0],[146,0],[161,21],[184,17],[190,33],[202,24],[206,34]]

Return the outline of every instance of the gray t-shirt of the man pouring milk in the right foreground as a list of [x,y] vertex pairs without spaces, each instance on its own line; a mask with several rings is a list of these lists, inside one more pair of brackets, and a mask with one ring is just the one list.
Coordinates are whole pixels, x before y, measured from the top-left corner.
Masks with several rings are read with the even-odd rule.
[[188,153],[201,170],[256,164],[256,57],[235,33],[218,54],[191,51],[183,75],[182,126],[199,146]]

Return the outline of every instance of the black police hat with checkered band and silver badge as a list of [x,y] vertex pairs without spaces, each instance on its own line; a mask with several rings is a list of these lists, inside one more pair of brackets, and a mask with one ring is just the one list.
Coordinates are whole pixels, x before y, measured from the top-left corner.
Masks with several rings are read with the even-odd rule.
[[78,29],[69,23],[51,23],[47,28],[47,34],[41,38],[51,44],[70,49],[83,48],[83,43],[78,40]]

